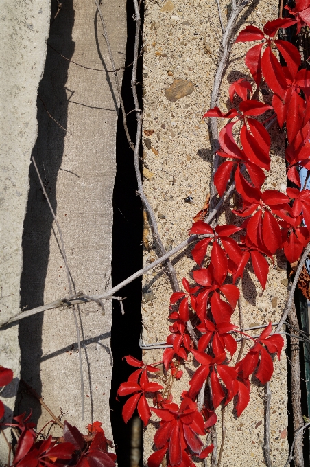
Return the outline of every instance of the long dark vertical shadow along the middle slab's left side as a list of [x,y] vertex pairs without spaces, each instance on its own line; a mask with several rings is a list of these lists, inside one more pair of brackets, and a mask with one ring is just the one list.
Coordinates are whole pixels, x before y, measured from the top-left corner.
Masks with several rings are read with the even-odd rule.
[[[51,2],[51,19],[57,12],[57,3]],[[51,22],[48,42],[64,56],[71,58],[75,43],[71,32],[74,24],[73,0],[62,4],[56,21]],[[67,95],[65,84],[69,62],[63,60],[47,46],[43,79],[38,89],[38,138],[32,151],[45,189],[56,212],[56,181],[64,151],[65,131],[47,114],[47,110],[64,128],[67,128]],[[44,104],[43,104],[44,103]],[[46,109],[45,109],[46,106]],[[33,163],[29,168],[29,195],[23,231],[23,273],[21,276],[21,308],[34,308],[43,304],[45,277],[49,261],[49,238],[53,235],[53,218],[40,188]],[[42,356],[43,314],[23,319],[19,323],[21,347],[21,378],[41,394],[40,361]],[[30,377],[29,377],[30,375]],[[38,422],[39,403],[19,389],[15,413],[29,412]]]

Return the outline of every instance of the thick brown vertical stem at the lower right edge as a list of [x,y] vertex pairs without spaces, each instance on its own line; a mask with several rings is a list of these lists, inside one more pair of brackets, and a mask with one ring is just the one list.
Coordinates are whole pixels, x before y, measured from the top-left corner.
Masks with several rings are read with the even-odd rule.
[[[298,328],[298,319],[296,315],[295,305],[291,306],[288,316],[289,322]],[[297,336],[293,337],[294,335]],[[304,420],[302,418],[301,409],[301,391],[300,391],[300,361],[299,361],[299,339],[298,331],[291,330],[291,404],[293,407],[293,429],[296,433],[302,426]],[[294,465],[295,467],[304,467],[304,456],[302,452],[302,431],[296,437],[294,446]]]

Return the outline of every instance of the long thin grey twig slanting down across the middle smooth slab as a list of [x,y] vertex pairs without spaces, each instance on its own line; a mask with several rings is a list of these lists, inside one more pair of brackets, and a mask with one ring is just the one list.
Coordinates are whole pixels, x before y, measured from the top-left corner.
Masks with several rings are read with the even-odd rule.
[[[51,202],[49,201],[49,197],[47,196],[47,192],[45,190],[44,183],[43,183],[43,181],[41,179],[40,172],[38,171],[38,167],[36,166],[36,160],[34,159],[34,156],[32,156],[32,161],[34,163],[34,168],[36,169],[36,173],[38,174],[38,179],[40,181],[41,188],[43,190],[43,193],[44,193],[45,198],[47,200],[47,203],[49,205],[49,209],[51,210],[53,220],[55,221],[56,227],[58,229],[58,234],[59,234],[59,237],[60,237],[60,244],[61,244],[61,251],[62,251],[62,258],[64,259],[64,265],[65,265],[66,272],[67,272],[69,293],[70,293],[70,295],[72,295],[73,290],[72,290],[72,286],[71,286],[71,278],[70,278],[70,271],[69,271],[69,266],[68,266],[68,261],[67,261],[66,249],[64,248],[64,239],[62,237],[62,230],[60,229],[60,225],[59,225],[58,220],[56,218],[56,214],[53,212],[53,207],[51,206]],[[80,328],[78,326],[78,318],[76,316],[76,310],[75,310],[74,306],[73,306],[72,310],[73,310],[73,317],[74,317],[74,321],[75,321],[75,329],[76,329],[76,334],[77,334],[77,339],[78,339],[79,363],[80,363],[80,380],[81,380],[81,412],[82,412],[82,420],[84,420],[84,377],[83,377],[83,367],[82,367]]]

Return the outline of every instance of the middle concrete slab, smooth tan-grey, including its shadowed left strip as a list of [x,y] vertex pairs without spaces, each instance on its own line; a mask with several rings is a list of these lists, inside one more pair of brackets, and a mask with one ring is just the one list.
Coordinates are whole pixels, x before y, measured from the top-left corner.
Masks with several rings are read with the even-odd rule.
[[[111,69],[102,25],[93,0],[67,0],[51,24],[48,43],[86,67]],[[56,2],[52,14],[56,12]],[[126,0],[104,1],[102,13],[117,67],[126,48]],[[121,73],[120,73],[121,78]],[[76,291],[92,294],[110,287],[112,190],[115,179],[115,135],[119,100],[114,77],[78,67],[48,47],[38,91],[38,140],[33,155],[58,216]],[[33,166],[23,238],[22,305],[32,308],[69,293],[56,226],[40,190]],[[112,355],[111,306],[102,316],[96,304],[81,306],[85,416],[81,418],[78,345],[72,310],[53,310],[21,321],[21,374],[56,415],[82,431],[94,420],[104,423],[108,406]],[[16,411],[34,407],[41,429],[50,415],[21,392]],[[62,418],[64,420],[64,418]],[[45,433],[47,429],[45,429]],[[59,433],[56,429],[52,434]]]

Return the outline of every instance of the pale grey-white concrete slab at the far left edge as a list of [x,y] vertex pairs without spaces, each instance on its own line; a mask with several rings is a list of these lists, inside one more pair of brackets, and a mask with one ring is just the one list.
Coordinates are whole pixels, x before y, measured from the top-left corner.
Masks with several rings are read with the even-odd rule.
[[[29,190],[29,162],[36,141],[36,93],[43,74],[50,0],[0,2],[0,323],[19,310],[21,237]],[[0,331],[0,365],[14,372],[1,391],[5,421],[12,418],[19,385],[18,327]],[[7,430],[10,437],[10,431]],[[0,437],[0,464],[8,446]]]

